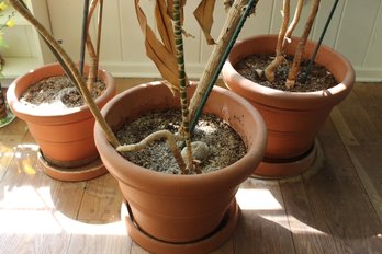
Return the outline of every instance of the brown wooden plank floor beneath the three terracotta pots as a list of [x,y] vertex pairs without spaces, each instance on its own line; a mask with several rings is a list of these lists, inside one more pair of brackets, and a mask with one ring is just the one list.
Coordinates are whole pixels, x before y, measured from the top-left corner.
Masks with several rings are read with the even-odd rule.
[[[304,175],[243,184],[239,224],[215,254],[382,253],[382,84],[358,83],[317,143]],[[23,122],[0,129],[0,253],[146,253],[125,231],[111,175],[52,180],[37,149]]]

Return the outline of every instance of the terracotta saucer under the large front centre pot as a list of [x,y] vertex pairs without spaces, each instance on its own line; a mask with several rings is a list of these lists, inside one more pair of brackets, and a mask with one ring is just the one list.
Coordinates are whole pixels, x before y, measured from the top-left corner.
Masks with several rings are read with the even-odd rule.
[[210,253],[211,251],[217,249],[224,242],[226,242],[228,238],[234,233],[239,217],[239,207],[236,204],[236,199],[234,199],[228,210],[226,211],[221,224],[214,232],[203,239],[193,242],[171,243],[155,239],[137,228],[128,216],[126,204],[124,203],[122,206],[122,218],[125,219],[128,235],[139,246],[142,246],[146,251],[154,253]]

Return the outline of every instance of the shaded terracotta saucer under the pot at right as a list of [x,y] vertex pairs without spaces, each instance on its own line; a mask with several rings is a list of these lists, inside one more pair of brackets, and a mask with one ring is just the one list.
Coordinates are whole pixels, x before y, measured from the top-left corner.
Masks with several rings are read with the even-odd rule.
[[255,170],[251,177],[261,180],[278,180],[300,175],[321,160],[318,157],[319,143],[314,141],[312,148],[304,154],[294,159],[285,160],[262,160],[259,166]]

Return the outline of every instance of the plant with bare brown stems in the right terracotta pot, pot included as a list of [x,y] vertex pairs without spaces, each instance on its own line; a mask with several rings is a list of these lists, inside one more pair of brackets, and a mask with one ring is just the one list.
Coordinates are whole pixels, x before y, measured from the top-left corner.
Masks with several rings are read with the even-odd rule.
[[[284,0],[279,35],[260,35],[237,42],[222,71],[226,86],[246,97],[266,122],[267,151],[259,168],[254,171],[254,175],[260,177],[292,176],[312,165],[316,157],[317,131],[332,108],[349,94],[355,81],[355,71],[344,56],[307,39],[319,0],[312,1],[302,36],[291,37],[303,4],[304,1],[299,0],[293,21],[289,24],[290,1]],[[249,60],[252,56],[257,56],[257,60]],[[258,64],[261,57],[267,59],[263,66]],[[288,58],[290,64],[286,64]],[[307,73],[313,61],[307,64],[306,69],[306,66],[301,68],[299,73],[301,62],[308,59],[315,59],[314,66],[318,69],[321,68],[324,81],[315,81],[319,84],[318,89],[305,89],[317,80],[316,72]],[[252,68],[239,69],[239,62]],[[249,78],[246,71],[256,79]],[[277,86],[279,83],[281,85]]]

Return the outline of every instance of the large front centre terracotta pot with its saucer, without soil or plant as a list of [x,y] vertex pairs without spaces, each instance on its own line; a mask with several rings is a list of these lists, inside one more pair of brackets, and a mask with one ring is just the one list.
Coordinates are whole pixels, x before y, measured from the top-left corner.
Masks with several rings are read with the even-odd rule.
[[[194,88],[189,91],[193,92]],[[179,99],[156,82],[116,95],[102,114],[116,130],[141,114],[171,107],[179,107]],[[229,238],[237,223],[235,194],[262,159],[266,127],[248,102],[221,88],[213,90],[204,111],[227,122],[241,136],[248,151],[227,168],[199,175],[169,175],[133,164],[115,151],[96,124],[96,145],[101,159],[119,181],[132,212],[126,217],[128,234],[148,251],[210,252]]]

